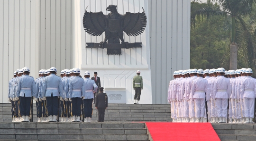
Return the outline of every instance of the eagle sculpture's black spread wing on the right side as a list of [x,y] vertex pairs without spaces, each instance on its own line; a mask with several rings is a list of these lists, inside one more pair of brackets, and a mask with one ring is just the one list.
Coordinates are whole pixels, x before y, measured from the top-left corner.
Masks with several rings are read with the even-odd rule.
[[126,12],[126,14],[122,17],[120,24],[122,30],[128,36],[140,35],[143,33],[146,27],[146,13],[144,9],[142,13]]

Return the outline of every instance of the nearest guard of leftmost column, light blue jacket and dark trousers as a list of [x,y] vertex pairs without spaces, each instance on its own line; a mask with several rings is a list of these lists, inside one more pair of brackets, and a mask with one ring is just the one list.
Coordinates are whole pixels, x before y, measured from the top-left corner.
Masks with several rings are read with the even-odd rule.
[[33,99],[35,99],[37,96],[36,84],[34,78],[29,76],[29,68],[23,68],[23,73],[25,75],[18,79],[16,97],[18,98],[19,96],[18,99],[20,100],[19,108],[21,121],[29,122],[28,116],[30,116],[30,107],[32,104],[31,97],[33,96]]

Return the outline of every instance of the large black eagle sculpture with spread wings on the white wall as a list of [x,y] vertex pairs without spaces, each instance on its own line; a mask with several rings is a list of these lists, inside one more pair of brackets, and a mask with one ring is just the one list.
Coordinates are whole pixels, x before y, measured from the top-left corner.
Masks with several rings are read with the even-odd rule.
[[[104,43],[125,43],[124,33],[128,36],[137,36],[143,33],[146,27],[146,13],[144,8],[142,13],[126,12],[125,15],[120,15],[116,5],[110,5],[107,10],[108,15],[103,12],[87,12],[85,9],[83,15],[83,28],[85,32],[92,36],[100,36],[105,32],[104,41],[100,42],[100,48],[104,48]],[[121,49],[108,49],[109,55],[120,55]]]

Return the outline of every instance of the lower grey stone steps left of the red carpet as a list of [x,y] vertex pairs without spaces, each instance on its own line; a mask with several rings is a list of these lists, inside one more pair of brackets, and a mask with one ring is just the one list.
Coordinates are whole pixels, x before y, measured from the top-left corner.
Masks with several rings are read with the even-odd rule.
[[0,123],[0,141],[150,141],[145,123]]

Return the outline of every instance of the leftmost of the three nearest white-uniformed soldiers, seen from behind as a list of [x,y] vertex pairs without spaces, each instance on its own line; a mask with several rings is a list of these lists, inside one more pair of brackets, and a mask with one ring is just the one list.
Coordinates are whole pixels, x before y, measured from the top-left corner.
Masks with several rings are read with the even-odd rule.
[[[195,101],[196,123],[202,122],[205,112],[205,97],[210,100],[210,87],[208,81],[202,78],[203,70],[198,69],[197,78],[192,81],[192,100]],[[205,96],[206,93],[206,96]]]

